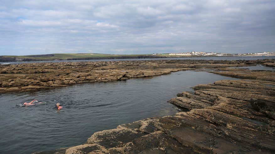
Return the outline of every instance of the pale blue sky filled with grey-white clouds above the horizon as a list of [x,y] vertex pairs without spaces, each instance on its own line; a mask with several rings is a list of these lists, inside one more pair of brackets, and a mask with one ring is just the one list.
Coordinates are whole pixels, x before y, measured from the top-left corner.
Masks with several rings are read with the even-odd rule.
[[0,55],[275,51],[274,0],[0,0]]

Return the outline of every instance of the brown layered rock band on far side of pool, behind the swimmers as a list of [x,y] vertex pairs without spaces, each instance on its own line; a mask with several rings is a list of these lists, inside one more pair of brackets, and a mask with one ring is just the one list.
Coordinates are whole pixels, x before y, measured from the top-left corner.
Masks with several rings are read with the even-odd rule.
[[274,63],[274,60],[140,60],[17,64],[0,66],[0,93],[62,87],[84,82],[125,80],[179,70],[267,63]]

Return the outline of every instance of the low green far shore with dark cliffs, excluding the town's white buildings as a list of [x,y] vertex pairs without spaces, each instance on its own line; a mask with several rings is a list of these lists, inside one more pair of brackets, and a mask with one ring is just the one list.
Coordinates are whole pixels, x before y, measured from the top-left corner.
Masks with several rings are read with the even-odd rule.
[[[80,55],[80,56],[78,56]],[[94,56],[93,56],[94,55]],[[61,61],[61,60],[105,60],[105,59],[154,59],[154,58],[196,58],[196,57],[245,57],[270,55],[227,55],[227,56],[165,56],[165,55],[111,55],[111,54],[43,54],[27,56],[0,56],[0,62]]]

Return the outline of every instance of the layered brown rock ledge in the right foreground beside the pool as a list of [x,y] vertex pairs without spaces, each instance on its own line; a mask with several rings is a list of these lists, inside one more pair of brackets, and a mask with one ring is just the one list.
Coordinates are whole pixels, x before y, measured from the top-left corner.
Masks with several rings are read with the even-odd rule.
[[119,125],[83,145],[39,153],[274,153],[274,86],[273,80],[197,85],[169,100],[190,111]]

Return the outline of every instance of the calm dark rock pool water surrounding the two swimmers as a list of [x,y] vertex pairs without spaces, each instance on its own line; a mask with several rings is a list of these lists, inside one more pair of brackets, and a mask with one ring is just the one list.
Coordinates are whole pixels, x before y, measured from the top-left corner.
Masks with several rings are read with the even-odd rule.
[[[180,71],[152,78],[89,83],[38,92],[0,94],[0,153],[32,153],[83,144],[96,131],[148,117],[173,115],[167,103],[197,84],[234,78]],[[43,105],[20,107],[36,99]],[[63,109],[57,112],[55,104]]]

